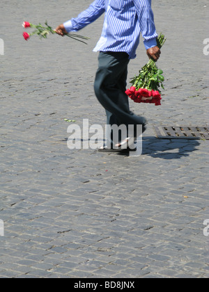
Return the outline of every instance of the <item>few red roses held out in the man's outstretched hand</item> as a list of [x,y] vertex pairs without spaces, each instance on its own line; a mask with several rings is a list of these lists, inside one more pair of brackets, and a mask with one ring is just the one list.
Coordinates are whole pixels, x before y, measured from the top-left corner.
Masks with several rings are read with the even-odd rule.
[[[40,38],[47,38],[49,33],[55,34],[56,31],[52,29],[51,26],[47,24],[47,21],[45,22],[45,26],[42,26],[42,24],[34,25],[31,24],[30,22],[23,22],[22,26],[26,28],[33,28],[36,29],[32,33],[26,33],[24,32],[22,35],[25,40],[28,40],[32,35],[38,35]],[[66,36],[69,38],[72,38],[73,40],[78,40],[79,42],[84,42],[84,40],[88,40],[89,38],[84,37],[83,35],[77,35],[75,33],[65,33]],[[86,42],[84,42],[86,44]]]

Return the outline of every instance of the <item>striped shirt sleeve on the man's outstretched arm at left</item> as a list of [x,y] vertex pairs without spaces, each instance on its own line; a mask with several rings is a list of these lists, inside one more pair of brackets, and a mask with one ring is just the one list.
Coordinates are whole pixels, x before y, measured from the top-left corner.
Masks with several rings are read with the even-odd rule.
[[95,20],[98,19],[104,11],[104,0],[95,0],[86,10],[80,13],[78,17],[72,18],[68,22],[65,22],[65,30],[68,33],[70,33],[70,31],[79,31],[88,24],[95,22]]

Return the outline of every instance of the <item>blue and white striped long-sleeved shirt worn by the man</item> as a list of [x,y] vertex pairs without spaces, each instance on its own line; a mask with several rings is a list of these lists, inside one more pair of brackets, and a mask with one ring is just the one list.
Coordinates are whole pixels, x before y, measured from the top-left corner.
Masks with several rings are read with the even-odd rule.
[[65,29],[79,31],[104,12],[102,35],[93,51],[125,51],[135,58],[140,33],[146,49],[157,45],[151,0],[95,0],[77,18],[65,22]]

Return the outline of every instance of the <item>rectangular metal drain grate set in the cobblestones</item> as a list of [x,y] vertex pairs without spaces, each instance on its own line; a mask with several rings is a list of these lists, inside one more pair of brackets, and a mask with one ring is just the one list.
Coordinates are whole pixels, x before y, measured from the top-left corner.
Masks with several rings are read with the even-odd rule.
[[158,138],[206,139],[209,140],[209,127],[154,127]]

